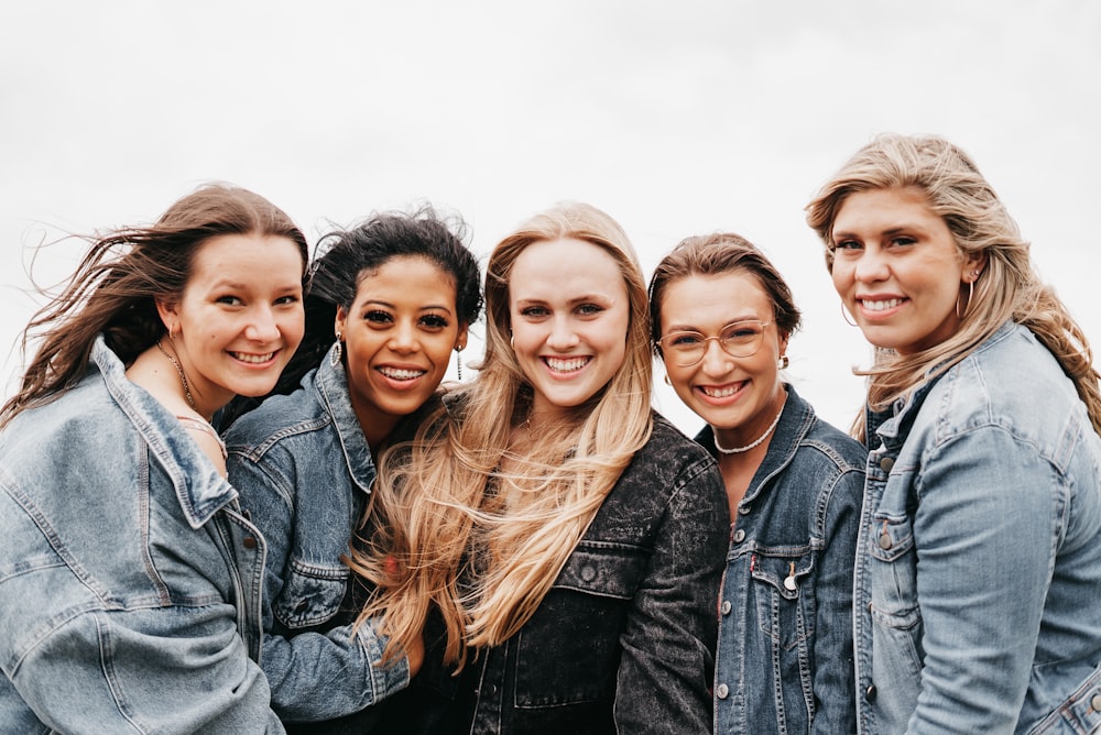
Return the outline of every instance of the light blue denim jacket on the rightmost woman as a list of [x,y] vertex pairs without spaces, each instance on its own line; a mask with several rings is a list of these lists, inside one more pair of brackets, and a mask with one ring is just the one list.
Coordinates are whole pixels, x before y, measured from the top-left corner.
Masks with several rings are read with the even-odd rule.
[[1101,438],[1007,322],[868,415],[863,733],[1101,732]]

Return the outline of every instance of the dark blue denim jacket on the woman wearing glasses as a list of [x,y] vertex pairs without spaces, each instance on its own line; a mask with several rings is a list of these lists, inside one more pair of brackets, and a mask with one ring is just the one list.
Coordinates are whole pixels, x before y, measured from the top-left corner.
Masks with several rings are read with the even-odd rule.
[[[727,553],[715,671],[721,735],[857,729],[852,559],[868,451],[786,388]],[[716,453],[710,427],[696,440]]]

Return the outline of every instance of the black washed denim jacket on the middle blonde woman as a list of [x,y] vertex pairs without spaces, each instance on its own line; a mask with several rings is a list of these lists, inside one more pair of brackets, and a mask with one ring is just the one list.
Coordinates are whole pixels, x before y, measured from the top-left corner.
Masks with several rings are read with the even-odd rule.
[[429,627],[424,668],[375,732],[710,733],[729,514],[715,461],[655,415],[535,615],[458,676]]

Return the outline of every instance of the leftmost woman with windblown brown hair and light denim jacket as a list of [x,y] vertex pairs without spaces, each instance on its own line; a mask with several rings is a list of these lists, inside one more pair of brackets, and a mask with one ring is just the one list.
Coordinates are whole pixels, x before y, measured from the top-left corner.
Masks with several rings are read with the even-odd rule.
[[283,732],[264,541],[209,421],[287,364],[306,257],[271,202],[204,187],[95,238],[31,322],[0,409],[3,732]]

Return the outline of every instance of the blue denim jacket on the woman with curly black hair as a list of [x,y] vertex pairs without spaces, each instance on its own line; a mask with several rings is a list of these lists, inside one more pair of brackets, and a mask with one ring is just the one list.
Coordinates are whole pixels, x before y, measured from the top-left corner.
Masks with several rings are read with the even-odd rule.
[[[385,638],[341,614],[340,560],[367,504],[374,461],[339,360],[326,356],[291,395],[275,395],[225,432],[229,480],[268,539],[263,669],[287,722],[358,712],[408,684],[408,661],[380,667]],[[335,727],[335,725],[333,725]]]

